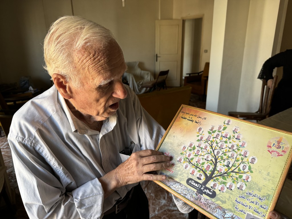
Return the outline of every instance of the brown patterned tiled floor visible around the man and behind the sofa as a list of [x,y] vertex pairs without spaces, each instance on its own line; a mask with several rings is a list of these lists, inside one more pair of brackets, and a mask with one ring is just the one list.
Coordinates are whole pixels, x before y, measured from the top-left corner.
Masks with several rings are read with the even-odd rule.
[[[201,101],[199,96],[192,94],[189,105],[205,109],[206,102]],[[2,136],[3,135],[4,133],[2,131]],[[7,173],[11,187],[15,190],[15,202],[17,206],[15,214],[11,213],[11,211],[7,211],[5,207],[0,208],[1,218],[28,219],[19,194],[16,178],[13,172],[11,151],[5,136],[0,138],[0,147],[5,165],[7,166]],[[152,181],[141,182],[141,185],[149,200],[149,211],[151,219],[188,218],[188,214],[183,214],[178,211],[172,199],[171,193],[164,190],[162,187]]]

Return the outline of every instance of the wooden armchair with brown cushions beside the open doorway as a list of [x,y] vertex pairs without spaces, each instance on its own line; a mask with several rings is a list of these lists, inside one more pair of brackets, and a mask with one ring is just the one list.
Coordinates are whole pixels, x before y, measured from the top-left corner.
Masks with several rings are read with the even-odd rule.
[[189,85],[192,87],[192,93],[198,95],[207,94],[208,76],[209,76],[210,62],[206,62],[204,70],[195,73],[188,73],[184,79],[184,86]]

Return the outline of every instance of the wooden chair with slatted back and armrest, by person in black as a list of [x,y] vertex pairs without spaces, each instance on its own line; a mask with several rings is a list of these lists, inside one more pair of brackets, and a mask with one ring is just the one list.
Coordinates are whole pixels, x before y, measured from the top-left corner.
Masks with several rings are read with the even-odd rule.
[[258,111],[256,112],[228,112],[228,115],[232,117],[236,117],[236,118],[256,120],[256,121],[260,121],[262,119],[269,117],[277,78],[278,76],[275,75],[271,89],[267,86],[267,81],[263,80],[261,93],[260,93],[260,106],[259,106]]

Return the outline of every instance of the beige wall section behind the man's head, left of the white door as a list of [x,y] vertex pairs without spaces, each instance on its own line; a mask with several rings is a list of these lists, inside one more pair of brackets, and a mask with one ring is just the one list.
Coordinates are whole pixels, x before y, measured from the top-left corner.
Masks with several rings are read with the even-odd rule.
[[143,70],[155,70],[155,20],[159,1],[73,0],[74,14],[110,29],[124,52],[126,62],[139,61]]

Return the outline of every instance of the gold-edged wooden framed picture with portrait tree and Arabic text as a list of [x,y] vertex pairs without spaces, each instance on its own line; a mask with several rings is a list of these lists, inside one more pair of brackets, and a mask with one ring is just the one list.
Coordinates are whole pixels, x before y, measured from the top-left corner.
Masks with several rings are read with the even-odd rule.
[[155,182],[209,218],[266,219],[291,145],[292,133],[182,105],[156,149],[172,158],[167,178]]

